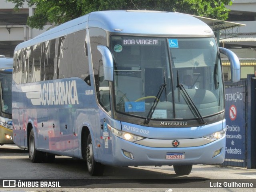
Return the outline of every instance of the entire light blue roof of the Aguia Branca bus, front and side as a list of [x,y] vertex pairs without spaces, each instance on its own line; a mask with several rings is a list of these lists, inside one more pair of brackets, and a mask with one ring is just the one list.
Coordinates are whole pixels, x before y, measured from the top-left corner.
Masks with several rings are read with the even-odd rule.
[[15,50],[94,27],[117,34],[214,36],[207,24],[188,14],[148,10],[111,10],[91,12],[68,21],[31,40],[22,42]]

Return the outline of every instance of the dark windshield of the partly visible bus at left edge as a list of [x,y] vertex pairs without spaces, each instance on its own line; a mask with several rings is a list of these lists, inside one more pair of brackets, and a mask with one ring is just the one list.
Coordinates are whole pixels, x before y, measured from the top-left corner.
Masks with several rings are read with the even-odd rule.
[[12,73],[0,74],[1,112],[12,114]]

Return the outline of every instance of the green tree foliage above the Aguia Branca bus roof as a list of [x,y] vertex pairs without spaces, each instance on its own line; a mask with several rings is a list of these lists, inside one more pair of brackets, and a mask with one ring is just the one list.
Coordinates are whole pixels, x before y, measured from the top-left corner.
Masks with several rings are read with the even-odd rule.
[[28,18],[31,28],[44,28],[47,22],[62,24],[84,14],[100,10],[161,10],[182,12],[208,18],[226,20],[231,0],[6,0],[15,4],[15,9],[24,2],[36,7]]

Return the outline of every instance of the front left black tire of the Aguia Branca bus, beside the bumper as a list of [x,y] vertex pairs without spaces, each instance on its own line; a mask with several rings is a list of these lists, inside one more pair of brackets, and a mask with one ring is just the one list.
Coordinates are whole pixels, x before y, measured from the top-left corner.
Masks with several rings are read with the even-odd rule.
[[88,135],[86,142],[86,164],[91,176],[101,176],[104,173],[104,165],[96,162],[93,157],[93,147],[91,134]]

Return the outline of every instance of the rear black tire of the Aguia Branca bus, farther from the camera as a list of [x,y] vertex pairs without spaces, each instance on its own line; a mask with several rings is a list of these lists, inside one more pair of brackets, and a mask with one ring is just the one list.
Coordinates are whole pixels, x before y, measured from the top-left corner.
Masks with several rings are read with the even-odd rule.
[[28,142],[29,158],[33,163],[42,162],[44,153],[36,150],[34,131],[31,130]]

